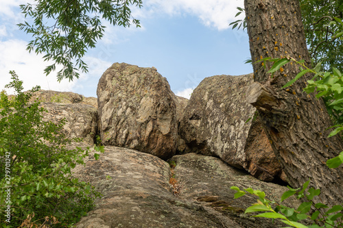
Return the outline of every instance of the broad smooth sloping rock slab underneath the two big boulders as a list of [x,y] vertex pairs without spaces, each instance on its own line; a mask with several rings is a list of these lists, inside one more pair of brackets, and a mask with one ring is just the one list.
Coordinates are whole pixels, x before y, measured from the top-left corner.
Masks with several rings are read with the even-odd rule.
[[[233,200],[235,191],[230,186],[265,190],[276,201],[287,188],[263,183],[215,157],[177,155],[171,159],[171,164],[176,164],[172,170],[167,162],[147,153],[105,147],[99,160],[90,156],[85,162],[85,167],[74,168],[73,175],[90,181],[103,197],[76,228],[279,225],[244,215],[244,209],[256,199]],[[175,183],[181,186],[178,197],[173,193]],[[298,201],[287,203],[298,205]]]

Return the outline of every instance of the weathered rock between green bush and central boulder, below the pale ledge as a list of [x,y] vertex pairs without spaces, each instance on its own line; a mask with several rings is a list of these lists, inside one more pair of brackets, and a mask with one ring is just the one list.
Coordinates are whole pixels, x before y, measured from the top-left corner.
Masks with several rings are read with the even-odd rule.
[[44,121],[60,123],[67,121],[63,133],[68,138],[82,138],[83,145],[93,145],[97,132],[97,110],[82,103],[40,103],[48,112],[43,113]]

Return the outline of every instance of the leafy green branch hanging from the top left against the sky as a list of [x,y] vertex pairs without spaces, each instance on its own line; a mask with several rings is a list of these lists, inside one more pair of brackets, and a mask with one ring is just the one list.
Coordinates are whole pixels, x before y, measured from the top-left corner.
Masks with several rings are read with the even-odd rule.
[[130,5],[141,8],[142,0],[34,0],[21,5],[21,12],[32,18],[33,23],[20,23],[19,29],[34,37],[27,45],[28,51],[46,53],[44,60],[53,60],[54,64],[45,68],[46,75],[60,64],[58,81],[63,78],[70,81],[79,77],[78,69],[88,71],[82,57],[104,36],[102,19],[110,25],[140,26],[139,20],[132,17]]

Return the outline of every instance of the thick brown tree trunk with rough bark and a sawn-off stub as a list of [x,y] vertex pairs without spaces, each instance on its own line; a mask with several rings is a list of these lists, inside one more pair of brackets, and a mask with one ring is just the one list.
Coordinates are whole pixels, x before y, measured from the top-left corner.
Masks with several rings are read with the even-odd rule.
[[[252,62],[262,58],[290,56],[309,63],[298,0],[245,0]],[[255,84],[247,91],[265,125],[274,153],[287,181],[298,188],[311,178],[310,186],[320,188],[327,205],[343,203],[343,168],[326,166],[328,159],[343,149],[339,136],[327,138],[331,126],[322,99],[303,91],[305,75],[289,88],[282,88],[299,73],[294,63],[286,64],[273,76],[272,63],[253,65]]]

